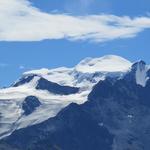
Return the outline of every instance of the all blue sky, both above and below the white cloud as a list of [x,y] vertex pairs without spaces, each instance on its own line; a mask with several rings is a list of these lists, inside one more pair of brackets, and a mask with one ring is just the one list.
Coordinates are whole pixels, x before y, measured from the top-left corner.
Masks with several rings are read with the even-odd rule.
[[[73,17],[109,14],[128,16],[131,19],[146,16],[149,19],[150,12],[149,0],[30,0],[30,2],[32,7],[37,7],[46,14],[69,14]],[[30,25],[30,22],[28,23]],[[2,30],[0,37],[1,32]],[[111,40],[106,38],[107,40],[99,42],[91,40],[91,37],[90,40],[85,37],[84,40],[79,37],[77,40],[63,37],[34,41],[30,41],[28,37],[27,40],[23,37],[22,41],[12,38],[9,37],[7,42],[1,38],[0,42],[1,87],[10,85],[24,71],[60,66],[72,67],[85,57],[115,54],[131,61],[143,59],[150,64],[149,28],[142,28],[142,31],[134,37],[113,37]]]

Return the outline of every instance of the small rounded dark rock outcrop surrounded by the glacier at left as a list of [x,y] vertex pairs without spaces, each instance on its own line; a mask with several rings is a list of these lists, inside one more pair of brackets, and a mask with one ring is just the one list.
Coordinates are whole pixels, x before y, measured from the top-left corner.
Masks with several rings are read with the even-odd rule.
[[26,97],[22,103],[22,109],[24,111],[24,115],[26,116],[30,115],[40,105],[41,105],[41,102],[35,96]]

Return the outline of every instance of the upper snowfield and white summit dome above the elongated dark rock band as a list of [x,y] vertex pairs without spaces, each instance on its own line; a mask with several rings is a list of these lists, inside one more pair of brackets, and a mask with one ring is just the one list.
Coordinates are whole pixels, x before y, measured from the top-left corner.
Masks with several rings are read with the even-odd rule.
[[[60,85],[82,87],[92,85],[105,79],[110,73],[125,73],[132,63],[115,55],[106,55],[99,58],[86,58],[73,68],[60,67],[56,69],[40,69],[25,72],[23,76],[36,75]],[[94,76],[95,73],[99,73]],[[91,84],[92,81],[92,84]]]

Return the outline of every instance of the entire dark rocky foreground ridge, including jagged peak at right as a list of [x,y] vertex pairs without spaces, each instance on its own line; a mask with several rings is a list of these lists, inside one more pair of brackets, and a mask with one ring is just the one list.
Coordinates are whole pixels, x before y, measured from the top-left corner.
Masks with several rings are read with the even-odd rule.
[[84,104],[71,103],[53,118],[15,130],[0,146],[18,150],[149,150],[149,72],[139,61],[122,77],[106,77],[93,87]]

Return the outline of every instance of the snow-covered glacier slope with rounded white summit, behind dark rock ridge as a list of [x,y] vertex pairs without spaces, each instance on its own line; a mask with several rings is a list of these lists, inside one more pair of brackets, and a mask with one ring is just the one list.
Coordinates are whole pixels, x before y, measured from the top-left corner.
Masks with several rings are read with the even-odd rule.
[[[84,63],[83,63],[84,62]],[[94,70],[91,71],[91,63]],[[119,67],[116,67],[119,65]],[[81,66],[86,68],[83,72]],[[107,66],[107,69],[106,69]],[[0,139],[13,131],[41,123],[72,102],[82,104],[92,87],[106,77],[122,77],[131,63],[119,56],[81,61],[74,68],[41,69],[25,72],[11,87],[0,90]],[[113,69],[110,69],[113,68]],[[25,115],[22,105],[34,96],[41,105]],[[29,104],[30,105],[30,104]]]

